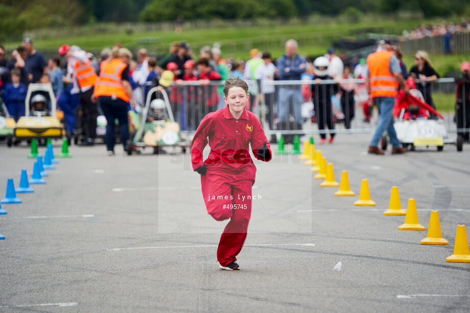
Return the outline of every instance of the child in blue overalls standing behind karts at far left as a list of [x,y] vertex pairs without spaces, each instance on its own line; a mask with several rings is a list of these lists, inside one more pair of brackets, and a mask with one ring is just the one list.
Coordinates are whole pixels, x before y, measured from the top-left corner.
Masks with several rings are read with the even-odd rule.
[[14,68],[11,71],[11,83],[7,84],[3,91],[3,101],[7,106],[8,113],[18,121],[21,116],[25,115],[25,99],[27,88],[20,82],[21,71]]

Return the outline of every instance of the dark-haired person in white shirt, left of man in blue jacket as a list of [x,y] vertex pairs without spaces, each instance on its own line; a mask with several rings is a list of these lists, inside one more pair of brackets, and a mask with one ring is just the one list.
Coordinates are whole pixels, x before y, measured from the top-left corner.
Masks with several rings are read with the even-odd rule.
[[260,92],[260,99],[265,104],[265,118],[269,123],[269,128],[273,129],[274,119],[274,85],[267,84],[268,81],[274,81],[274,76],[278,75],[277,67],[271,62],[271,54],[269,52],[263,53],[263,63],[260,64],[255,71],[255,78],[258,83]]

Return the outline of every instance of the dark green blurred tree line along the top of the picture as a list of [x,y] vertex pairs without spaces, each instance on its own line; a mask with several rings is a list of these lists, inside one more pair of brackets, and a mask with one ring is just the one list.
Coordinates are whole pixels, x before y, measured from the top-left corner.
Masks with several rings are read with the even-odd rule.
[[303,17],[397,11],[422,12],[426,18],[470,15],[461,0],[0,0],[0,40],[25,30],[96,22]]

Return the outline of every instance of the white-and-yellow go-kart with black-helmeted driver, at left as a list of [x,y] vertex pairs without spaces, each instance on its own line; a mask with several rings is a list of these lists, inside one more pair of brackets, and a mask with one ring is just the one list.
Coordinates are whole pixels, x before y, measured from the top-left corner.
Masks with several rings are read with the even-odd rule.
[[[36,93],[34,97],[49,95],[47,102],[50,101],[50,107],[49,103],[44,103],[41,108],[35,107],[33,93]],[[15,140],[62,138],[65,135],[63,124],[57,117],[57,103],[51,84],[30,84],[25,106],[26,116],[21,117],[16,123]]]

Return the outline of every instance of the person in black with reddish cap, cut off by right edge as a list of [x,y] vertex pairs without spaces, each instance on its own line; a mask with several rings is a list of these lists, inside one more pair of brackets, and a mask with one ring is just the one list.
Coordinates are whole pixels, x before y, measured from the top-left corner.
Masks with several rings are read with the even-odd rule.
[[457,128],[465,128],[457,131],[465,142],[470,142],[470,63],[463,62],[460,67],[462,73],[457,81],[455,117]]

